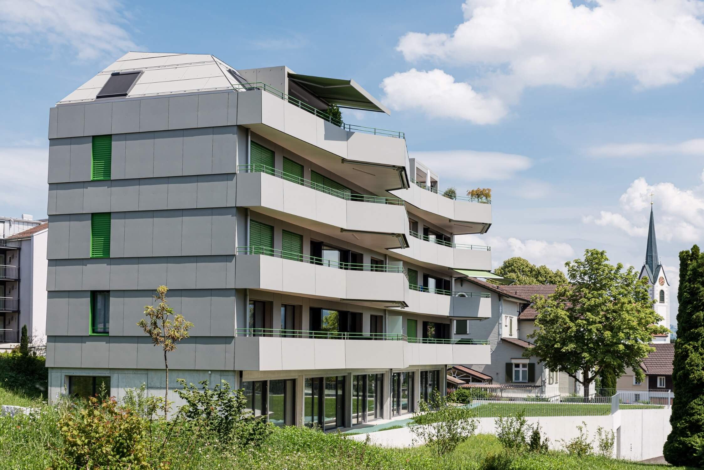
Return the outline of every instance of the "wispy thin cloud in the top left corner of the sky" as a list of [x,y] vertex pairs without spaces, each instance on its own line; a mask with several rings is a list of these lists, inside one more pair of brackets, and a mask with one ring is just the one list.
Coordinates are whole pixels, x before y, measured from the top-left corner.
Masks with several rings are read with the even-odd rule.
[[118,0],[0,0],[0,34],[20,47],[68,46],[80,60],[137,49]]

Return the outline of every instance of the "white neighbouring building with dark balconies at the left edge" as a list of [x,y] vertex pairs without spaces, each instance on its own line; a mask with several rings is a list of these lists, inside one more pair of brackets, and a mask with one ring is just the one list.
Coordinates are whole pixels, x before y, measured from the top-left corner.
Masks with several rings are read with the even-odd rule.
[[0,217],[0,350],[14,348],[20,330],[46,343],[46,222]]

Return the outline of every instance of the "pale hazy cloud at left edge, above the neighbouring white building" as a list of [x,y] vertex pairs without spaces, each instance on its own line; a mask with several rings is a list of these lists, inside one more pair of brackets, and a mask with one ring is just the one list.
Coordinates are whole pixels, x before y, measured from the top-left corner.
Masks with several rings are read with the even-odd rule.
[[46,212],[46,185],[49,149],[44,147],[0,147],[3,184],[0,207]]

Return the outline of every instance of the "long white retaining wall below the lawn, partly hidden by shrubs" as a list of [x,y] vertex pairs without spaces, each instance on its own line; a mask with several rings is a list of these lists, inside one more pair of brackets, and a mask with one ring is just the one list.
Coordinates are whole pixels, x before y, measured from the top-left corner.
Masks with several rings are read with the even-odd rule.
[[[670,409],[633,409],[619,410],[607,416],[527,417],[526,421],[540,424],[543,436],[550,438],[550,448],[553,450],[562,450],[561,440],[579,436],[577,426],[582,425],[582,421],[586,423],[595,452],[596,428],[601,426],[605,430],[613,430],[617,436],[614,457],[640,461],[662,455],[662,445],[671,429],[670,414]],[[496,433],[495,418],[479,418],[478,421],[477,433]],[[409,428],[378,431],[368,436],[371,444],[383,447],[409,447],[413,445],[414,437]],[[350,438],[363,441],[367,434],[354,434]]]

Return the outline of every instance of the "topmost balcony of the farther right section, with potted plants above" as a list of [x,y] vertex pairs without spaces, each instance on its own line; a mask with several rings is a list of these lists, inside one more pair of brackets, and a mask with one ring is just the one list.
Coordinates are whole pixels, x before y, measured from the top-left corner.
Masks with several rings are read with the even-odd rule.
[[[451,234],[484,234],[491,227],[491,201],[445,196],[444,191],[411,179],[409,189],[391,191],[413,205],[418,215]],[[409,208],[410,212],[414,212]]]

